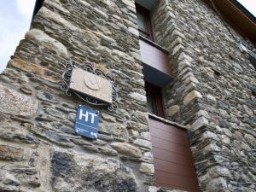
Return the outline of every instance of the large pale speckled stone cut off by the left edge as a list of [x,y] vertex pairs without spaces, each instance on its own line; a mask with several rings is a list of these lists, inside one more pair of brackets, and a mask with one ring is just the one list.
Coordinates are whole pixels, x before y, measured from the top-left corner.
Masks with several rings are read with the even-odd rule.
[[32,117],[37,113],[38,102],[29,96],[0,84],[0,112]]

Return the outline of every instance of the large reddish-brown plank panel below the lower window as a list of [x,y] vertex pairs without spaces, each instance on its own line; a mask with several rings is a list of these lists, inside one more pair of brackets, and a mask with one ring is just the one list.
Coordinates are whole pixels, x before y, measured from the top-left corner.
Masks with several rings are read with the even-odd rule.
[[187,131],[156,119],[148,120],[157,186],[200,191]]

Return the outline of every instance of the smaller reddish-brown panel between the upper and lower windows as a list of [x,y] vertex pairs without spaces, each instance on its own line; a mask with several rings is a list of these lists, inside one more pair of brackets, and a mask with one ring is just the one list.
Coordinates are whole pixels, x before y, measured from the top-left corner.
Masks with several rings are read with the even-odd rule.
[[172,68],[168,62],[168,55],[142,39],[140,39],[139,43],[143,63],[156,68],[162,73],[172,76]]

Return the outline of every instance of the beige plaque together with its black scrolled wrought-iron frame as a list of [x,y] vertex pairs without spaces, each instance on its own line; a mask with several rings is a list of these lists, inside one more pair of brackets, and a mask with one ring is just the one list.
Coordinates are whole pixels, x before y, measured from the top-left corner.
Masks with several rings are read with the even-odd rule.
[[70,61],[65,67],[61,90],[67,96],[78,96],[90,105],[107,106],[109,111],[117,109],[118,87],[114,79],[91,64]]

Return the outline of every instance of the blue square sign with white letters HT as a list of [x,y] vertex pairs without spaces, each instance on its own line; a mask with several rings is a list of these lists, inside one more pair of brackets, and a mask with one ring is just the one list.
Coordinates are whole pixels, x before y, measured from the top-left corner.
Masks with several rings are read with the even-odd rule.
[[99,112],[79,105],[75,131],[78,135],[96,138],[98,134]]

